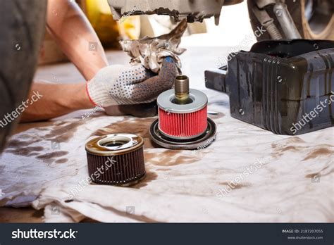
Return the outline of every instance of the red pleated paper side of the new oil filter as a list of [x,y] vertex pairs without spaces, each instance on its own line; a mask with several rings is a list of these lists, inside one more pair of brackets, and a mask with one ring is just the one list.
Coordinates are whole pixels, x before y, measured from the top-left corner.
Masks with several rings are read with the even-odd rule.
[[159,108],[159,130],[175,138],[193,138],[205,132],[207,127],[207,106],[190,113],[173,113]]

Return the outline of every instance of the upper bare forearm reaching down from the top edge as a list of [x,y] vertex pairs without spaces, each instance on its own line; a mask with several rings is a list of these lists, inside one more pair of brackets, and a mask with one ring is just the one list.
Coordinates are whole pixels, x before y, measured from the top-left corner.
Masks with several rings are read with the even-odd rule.
[[47,11],[48,31],[85,79],[92,79],[108,62],[85,14],[75,1],[69,0],[49,0]]

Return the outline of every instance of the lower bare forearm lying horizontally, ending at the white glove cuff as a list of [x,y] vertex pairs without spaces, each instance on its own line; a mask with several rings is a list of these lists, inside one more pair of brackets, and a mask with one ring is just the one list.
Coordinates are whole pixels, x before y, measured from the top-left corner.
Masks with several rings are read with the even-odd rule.
[[31,98],[34,92],[38,92],[42,97],[25,109],[21,122],[47,120],[73,111],[94,108],[94,104],[89,101],[84,83],[35,82],[32,84],[28,98]]

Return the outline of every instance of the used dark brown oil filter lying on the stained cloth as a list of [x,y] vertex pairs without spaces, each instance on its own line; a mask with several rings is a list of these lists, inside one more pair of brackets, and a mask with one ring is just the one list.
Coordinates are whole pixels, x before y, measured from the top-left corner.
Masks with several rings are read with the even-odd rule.
[[89,177],[97,184],[127,187],[146,176],[144,139],[135,134],[108,134],[86,143]]

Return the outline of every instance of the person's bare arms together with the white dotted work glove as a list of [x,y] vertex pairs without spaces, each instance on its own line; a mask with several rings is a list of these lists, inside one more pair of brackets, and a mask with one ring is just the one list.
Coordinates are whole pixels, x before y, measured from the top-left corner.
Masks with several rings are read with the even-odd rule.
[[[54,16],[50,16],[54,15]],[[178,69],[172,58],[166,58],[159,74],[142,65],[107,66],[103,48],[85,15],[69,0],[49,0],[47,25],[59,46],[87,80],[81,84],[33,84],[42,98],[28,106],[21,121],[47,120],[80,109],[103,106],[108,115],[142,115],[141,103],[154,101],[173,87]],[[89,42],[98,44],[97,52]]]

